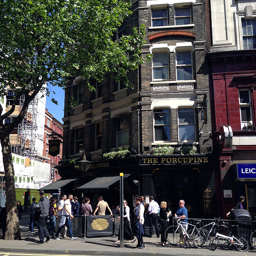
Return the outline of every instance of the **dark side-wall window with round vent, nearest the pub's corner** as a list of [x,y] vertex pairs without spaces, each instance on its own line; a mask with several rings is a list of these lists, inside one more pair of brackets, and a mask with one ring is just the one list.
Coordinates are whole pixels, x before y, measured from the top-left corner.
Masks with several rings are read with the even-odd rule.
[[129,145],[129,115],[117,118],[117,146]]

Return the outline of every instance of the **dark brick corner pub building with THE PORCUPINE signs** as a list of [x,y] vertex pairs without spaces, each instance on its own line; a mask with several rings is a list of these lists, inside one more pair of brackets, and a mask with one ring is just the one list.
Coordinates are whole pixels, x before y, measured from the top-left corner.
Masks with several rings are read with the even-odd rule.
[[[84,183],[124,172],[130,174],[125,187],[129,201],[133,195],[154,195],[176,210],[178,200],[184,199],[189,217],[214,214],[204,7],[203,0],[132,1],[133,14],[118,28],[117,40],[131,33],[133,26],[145,24],[142,55],[154,56],[130,73],[134,88],[107,75],[106,80],[94,83],[96,92],[90,92],[80,76],[67,82],[63,158],[82,158],[84,150],[87,160],[92,161]],[[77,97],[78,105],[69,109],[71,95]],[[158,145],[194,146],[197,153],[154,156],[152,148]],[[129,148],[131,156],[102,160],[101,154],[119,147]],[[70,170],[58,169],[62,178],[71,177]],[[72,172],[72,177],[81,176]],[[82,179],[79,182],[83,183]],[[109,191],[111,195],[105,191],[82,192],[118,200],[118,187]]]

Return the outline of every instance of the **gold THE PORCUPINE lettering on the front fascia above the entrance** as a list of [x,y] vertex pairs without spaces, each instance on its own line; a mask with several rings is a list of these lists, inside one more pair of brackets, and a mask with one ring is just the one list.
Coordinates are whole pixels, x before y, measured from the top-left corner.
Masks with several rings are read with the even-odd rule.
[[208,163],[208,157],[161,157],[142,158],[142,164]]

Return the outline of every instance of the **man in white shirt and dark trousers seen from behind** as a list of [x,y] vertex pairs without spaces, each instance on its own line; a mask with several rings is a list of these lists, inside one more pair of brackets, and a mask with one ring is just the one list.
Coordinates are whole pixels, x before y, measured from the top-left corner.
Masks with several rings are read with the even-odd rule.
[[160,237],[160,231],[158,226],[158,212],[160,208],[158,203],[154,200],[153,196],[149,196],[149,205],[146,214],[149,212],[149,237],[152,237],[154,232],[154,226],[156,229],[156,237]]

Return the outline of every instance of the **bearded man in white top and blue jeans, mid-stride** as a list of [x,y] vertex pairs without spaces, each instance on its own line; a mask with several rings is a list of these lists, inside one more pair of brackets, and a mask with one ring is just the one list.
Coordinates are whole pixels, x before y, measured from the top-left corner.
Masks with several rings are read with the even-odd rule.
[[69,194],[68,199],[65,200],[65,202],[64,202],[64,207],[62,210],[62,216],[61,216],[61,221],[60,221],[60,227],[58,228],[58,230],[54,236],[54,239],[56,239],[56,240],[60,240],[59,234],[60,234],[61,229],[65,225],[67,225],[69,228],[70,240],[77,239],[77,237],[73,236],[73,232],[72,232],[71,218],[74,218],[74,216],[71,214],[71,203],[70,202],[72,201],[72,199],[73,199],[73,195]]

